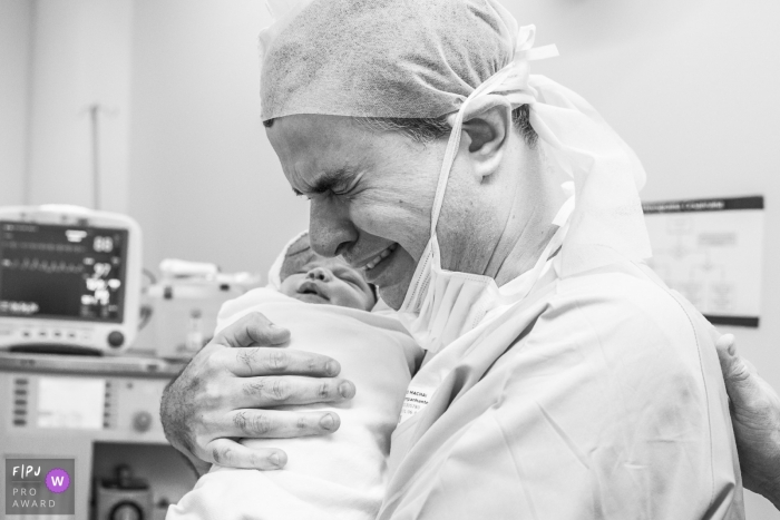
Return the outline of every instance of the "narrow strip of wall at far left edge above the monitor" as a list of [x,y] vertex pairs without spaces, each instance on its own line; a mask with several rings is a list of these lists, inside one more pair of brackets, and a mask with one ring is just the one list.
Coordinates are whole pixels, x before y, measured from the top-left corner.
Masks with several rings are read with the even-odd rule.
[[0,0],[0,206],[25,200],[32,3]]

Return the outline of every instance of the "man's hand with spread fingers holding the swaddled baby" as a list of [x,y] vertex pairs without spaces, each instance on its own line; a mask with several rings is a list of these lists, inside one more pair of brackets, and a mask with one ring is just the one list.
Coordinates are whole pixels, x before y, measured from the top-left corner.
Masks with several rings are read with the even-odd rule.
[[[163,394],[160,419],[173,447],[191,460],[271,470],[286,463],[282,450],[251,450],[237,440],[322,435],[338,430],[340,419],[333,412],[273,410],[338,403],[354,395],[351,382],[335,377],[341,371],[337,361],[280,346],[289,340],[289,331],[260,313],[248,314],[217,334]],[[204,464],[196,465],[204,469]]]

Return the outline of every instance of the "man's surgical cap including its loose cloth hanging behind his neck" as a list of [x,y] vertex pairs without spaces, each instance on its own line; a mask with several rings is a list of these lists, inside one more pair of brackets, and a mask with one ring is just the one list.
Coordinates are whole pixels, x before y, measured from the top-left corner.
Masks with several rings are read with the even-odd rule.
[[[261,32],[263,120],[294,114],[425,118],[457,112],[440,184],[476,98],[530,106],[552,166],[574,180],[563,275],[616,255],[651,255],[638,189],[645,174],[628,146],[582,97],[529,62],[535,27],[518,29],[496,0],[272,0]],[[435,233],[443,189],[431,216]]]

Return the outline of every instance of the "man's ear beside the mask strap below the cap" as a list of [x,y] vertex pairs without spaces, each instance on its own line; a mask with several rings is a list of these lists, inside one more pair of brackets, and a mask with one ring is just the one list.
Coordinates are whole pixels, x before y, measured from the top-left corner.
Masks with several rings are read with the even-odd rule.
[[[450,125],[456,117],[450,115]],[[475,99],[466,109],[461,146],[468,147],[475,173],[481,178],[493,175],[501,164],[511,126],[511,105],[504,96]]]

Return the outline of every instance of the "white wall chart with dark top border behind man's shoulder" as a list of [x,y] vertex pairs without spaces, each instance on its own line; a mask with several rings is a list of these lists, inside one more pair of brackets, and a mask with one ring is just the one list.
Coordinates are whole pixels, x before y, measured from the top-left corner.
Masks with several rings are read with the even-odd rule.
[[758,327],[763,197],[643,204],[647,264],[716,325]]

